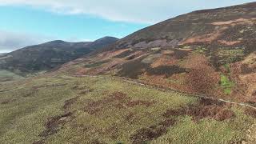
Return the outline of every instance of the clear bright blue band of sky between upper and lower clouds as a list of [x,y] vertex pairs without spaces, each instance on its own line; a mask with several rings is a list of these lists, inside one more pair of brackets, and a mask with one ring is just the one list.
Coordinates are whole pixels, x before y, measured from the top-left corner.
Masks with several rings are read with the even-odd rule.
[[42,34],[70,41],[122,38],[147,24],[113,22],[89,14],[58,14],[29,6],[1,6],[0,27],[19,33]]

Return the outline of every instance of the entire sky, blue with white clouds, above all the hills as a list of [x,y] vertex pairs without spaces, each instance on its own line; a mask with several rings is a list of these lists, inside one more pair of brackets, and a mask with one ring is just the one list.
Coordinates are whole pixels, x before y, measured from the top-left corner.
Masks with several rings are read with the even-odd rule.
[[0,0],[0,53],[61,39],[123,38],[194,10],[252,0]]

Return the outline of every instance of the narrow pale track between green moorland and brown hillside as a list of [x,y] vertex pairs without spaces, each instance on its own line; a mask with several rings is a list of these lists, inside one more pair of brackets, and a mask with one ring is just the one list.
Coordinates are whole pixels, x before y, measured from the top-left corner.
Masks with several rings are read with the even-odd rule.
[[240,102],[232,102],[230,100],[225,100],[222,98],[213,98],[210,96],[206,96],[203,94],[189,94],[189,93],[185,93],[179,90],[174,90],[174,89],[170,89],[170,88],[164,88],[162,86],[153,86],[150,84],[146,84],[144,82],[140,82],[139,80],[134,80],[134,79],[130,79],[130,78],[123,78],[123,77],[106,77],[106,76],[99,76],[99,75],[72,75],[74,77],[89,77],[89,78],[103,78],[103,79],[121,79],[124,82],[129,82],[135,85],[139,85],[139,86],[146,86],[146,87],[150,87],[156,90],[161,90],[161,91],[171,91],[171,92],[175,92],[178,94],[182,94],[182,95],[186,95],[186,96],[190,96],[190,97],[198,97],[198,98],[206,98],[206,99],[212,99],[212,100],[216,100],[219,102],[226,102],[226,103],[230,103],[230,104],[234,104],[234,105],[238,105],[238,106],[246,106],[246,107],[250,107],[254,110],[256,110],[256,107],[254,106],[250,106],[249,104],[246,103],[240,103]]

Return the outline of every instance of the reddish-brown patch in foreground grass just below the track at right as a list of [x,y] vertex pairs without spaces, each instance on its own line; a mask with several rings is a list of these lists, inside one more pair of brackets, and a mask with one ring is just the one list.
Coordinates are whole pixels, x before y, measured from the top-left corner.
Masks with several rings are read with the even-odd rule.
[[223,102],[217,102],[206,98],[201,98],[198,105],[182,107],[177,110],[166,110],[164,117],[190,115],[197,122],[202,118],[214,118],[216,121],[224,121],[235,116],[232,110],[226,109]]

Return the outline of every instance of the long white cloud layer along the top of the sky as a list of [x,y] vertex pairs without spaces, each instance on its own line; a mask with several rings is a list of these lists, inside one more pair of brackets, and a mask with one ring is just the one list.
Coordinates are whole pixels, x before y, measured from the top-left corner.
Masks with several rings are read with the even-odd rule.
[[93,14],[112,21],[155,23],[192,10],[252,0],[0,0],[0,5],[35,6],[61,14]]

